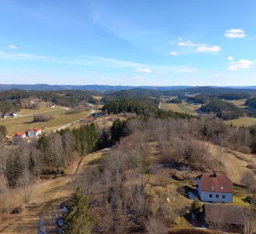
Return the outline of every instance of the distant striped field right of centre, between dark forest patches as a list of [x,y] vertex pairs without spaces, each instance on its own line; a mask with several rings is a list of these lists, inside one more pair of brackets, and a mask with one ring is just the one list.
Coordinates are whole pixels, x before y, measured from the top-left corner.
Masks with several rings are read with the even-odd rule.
[[196,110],[198,109],[198,107],[192,104],[188,104],[186,102],[182,102],[179,104],[161,102],[161,109],[172,110],[174,112],[187,113],[187,114],[197,114]]

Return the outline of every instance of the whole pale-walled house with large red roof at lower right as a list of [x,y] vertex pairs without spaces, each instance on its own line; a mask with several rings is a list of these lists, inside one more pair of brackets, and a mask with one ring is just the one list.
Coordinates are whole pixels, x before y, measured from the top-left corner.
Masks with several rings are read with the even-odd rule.
[[223,174],[209,172],[196,178],[200,200],[209,203],[232,203],[233,183]]

